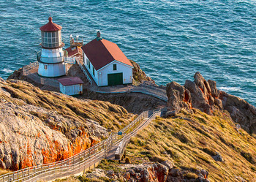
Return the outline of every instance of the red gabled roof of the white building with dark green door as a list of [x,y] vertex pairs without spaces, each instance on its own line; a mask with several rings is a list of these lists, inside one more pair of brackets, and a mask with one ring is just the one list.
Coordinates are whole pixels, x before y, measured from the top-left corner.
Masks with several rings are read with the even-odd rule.
[[93,39],[91,42],[83,45],[82,49],[96,70],[105,67],[114,60],[132,67],[131,62],[118,48],[118,45],[106,39]]

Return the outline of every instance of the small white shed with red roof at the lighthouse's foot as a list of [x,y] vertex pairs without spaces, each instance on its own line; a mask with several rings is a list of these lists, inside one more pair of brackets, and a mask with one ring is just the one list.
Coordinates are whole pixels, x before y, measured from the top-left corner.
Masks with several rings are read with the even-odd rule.
[[83,94],[83,80],[80,77],[59,78],[59,90],[69,96]]

